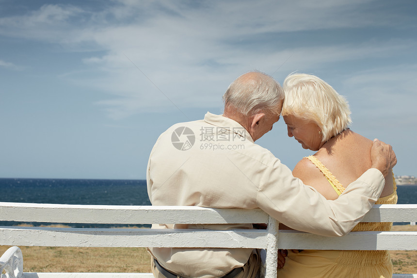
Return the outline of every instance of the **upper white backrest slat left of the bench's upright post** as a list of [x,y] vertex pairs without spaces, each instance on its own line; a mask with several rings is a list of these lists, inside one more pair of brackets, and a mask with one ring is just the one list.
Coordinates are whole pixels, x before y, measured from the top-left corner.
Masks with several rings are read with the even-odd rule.
[[194,206],[104,206],[0,202],[0,221],[90,224],[238,224],[268,223],[260,209]]

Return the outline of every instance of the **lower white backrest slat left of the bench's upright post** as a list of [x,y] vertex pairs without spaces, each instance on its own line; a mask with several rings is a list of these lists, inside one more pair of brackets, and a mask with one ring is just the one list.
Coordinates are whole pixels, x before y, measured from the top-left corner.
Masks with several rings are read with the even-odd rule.
[[0,245],[266,248],[266,230],[0,227]]

